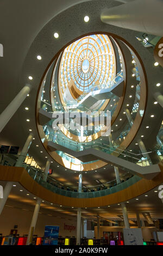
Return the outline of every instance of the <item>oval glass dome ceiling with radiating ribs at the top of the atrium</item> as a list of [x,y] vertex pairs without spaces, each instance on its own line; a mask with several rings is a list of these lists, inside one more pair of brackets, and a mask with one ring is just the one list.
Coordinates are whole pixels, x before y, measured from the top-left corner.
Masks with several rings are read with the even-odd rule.
[[97,84],[107,84],[115,76],[114,62],[114,50],[107,35],[89,35],[73,42],[65,48],[61,59],[61,92],[65,93],[71,81],[80,95],[89,93]]

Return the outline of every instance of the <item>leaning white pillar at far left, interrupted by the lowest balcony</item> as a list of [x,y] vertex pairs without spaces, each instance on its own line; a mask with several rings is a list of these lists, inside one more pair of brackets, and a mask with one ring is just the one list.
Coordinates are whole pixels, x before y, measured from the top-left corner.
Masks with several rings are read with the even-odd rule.
[[[27,152],[28,152],[30,143],[32,142],[32,139],[33,139],[33,134],[30,133],[28,138],[27,138],[26,143],[24,144],[21,155],[18,157],[18,160],[15,164],[16,167],[21,167],[22,166],[22,163],[24,161],[24,158],[27,155]],[[7,182],[7,184],[5,185],[3,199],[0,199],[0,215],[1,215],[1,212],[4,208],[5,203],[7,202],[7,199],[8,199],[8,196],[9,196],[9,193],[11,191],[11,188],[12,188],[13,184],[14,184],[14,182]]]

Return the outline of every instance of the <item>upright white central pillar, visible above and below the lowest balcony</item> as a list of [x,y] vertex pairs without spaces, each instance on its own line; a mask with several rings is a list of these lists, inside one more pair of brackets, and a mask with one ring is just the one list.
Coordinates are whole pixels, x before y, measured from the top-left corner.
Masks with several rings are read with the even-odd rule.
[[[82,174],[79,174],[79,185],[78,192],[82,192]],[[78,208],[77,212],[77,245],[80,245],[80,237],[81,237],[81,208]]]

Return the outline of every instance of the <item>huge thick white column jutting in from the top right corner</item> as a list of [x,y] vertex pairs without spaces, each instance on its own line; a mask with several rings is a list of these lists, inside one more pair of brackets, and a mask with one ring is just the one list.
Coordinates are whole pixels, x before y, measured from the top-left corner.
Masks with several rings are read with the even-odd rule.
[[123,2],[128,3],[105,9],[101,14],[101,20],[121,28],[162,36],[163,28],[159,26],[162,24],[163,2],[161,0]]

